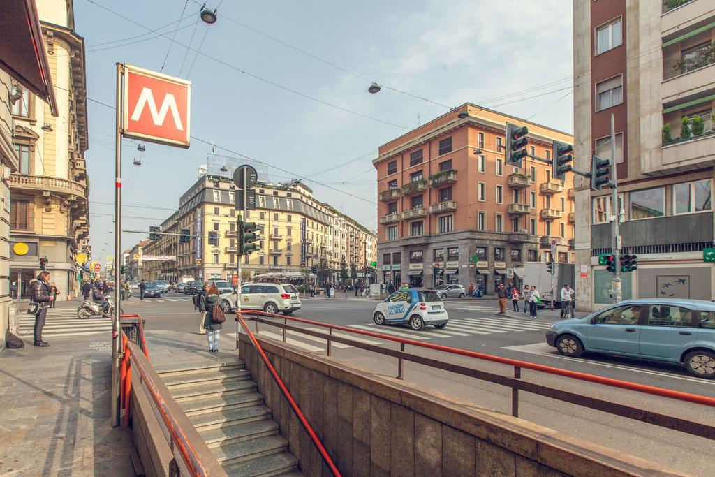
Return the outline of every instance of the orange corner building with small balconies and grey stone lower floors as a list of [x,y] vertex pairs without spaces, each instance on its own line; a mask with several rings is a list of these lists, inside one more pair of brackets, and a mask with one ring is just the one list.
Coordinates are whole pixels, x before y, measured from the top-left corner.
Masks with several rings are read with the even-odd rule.
[[501,282],[521,285],[524,262],[573,262],[573,174],[564,183],[538,160],[505,164],[506,122],[528,127],[527,152],[537,157],[551,160],[555,139],[573,144],[565,132],[467,103],[380,147],[385,283],[473,283],[491,293]]

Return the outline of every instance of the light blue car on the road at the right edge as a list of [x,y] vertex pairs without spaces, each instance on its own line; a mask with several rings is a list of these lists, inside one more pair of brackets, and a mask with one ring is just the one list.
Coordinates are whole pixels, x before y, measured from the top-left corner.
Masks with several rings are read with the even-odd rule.
[[553,323],[546,343],[564,356],[593,351],[680,363],[699,378],[715,378],[715,303],[625,300],[583,318]]

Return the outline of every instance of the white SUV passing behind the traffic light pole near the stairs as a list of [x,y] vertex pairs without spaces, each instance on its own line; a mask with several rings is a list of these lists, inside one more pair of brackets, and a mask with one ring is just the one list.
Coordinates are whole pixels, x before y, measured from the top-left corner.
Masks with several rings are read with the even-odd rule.
[[[236,308],[236,293],[222,293],[221,306],[224,312]],[[247,283],[241,287],[241,308],[263,310],[266,313],[290,315],[300,310],[298,290],[290,283]]]

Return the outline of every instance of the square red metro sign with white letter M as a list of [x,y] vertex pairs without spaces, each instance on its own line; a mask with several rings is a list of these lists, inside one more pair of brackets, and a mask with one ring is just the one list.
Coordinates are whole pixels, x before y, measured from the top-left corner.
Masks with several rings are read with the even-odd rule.
[[189,147],[191,82],[125,64],[123,106],[124,137]]

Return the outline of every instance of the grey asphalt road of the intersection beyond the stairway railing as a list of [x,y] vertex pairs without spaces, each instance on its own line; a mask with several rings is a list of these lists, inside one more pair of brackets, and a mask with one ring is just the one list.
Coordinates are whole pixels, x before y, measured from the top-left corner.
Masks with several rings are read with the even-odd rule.
[[[136,297],[132,297],[128,302],[124,302],[123,307],[127,313],[140,313],[146,318],[147,330],[177,330],[195,333],[199,328],[199,313],[194,311],[189,295],[169,292],[162,298],[148,298],[142,303],[139,303]],[[446,304],[450,315],[450,323],[447,328],[435,330],[430,327],[415,332],[408,328],[392,325],[377,327],[372,322],[374,308],[375,302],[368,300],[304,299],[303,308],[292,316],[343,325],[356,330],[374,331],[400,338],[420,340],[425,343],[539,363],[554,368],[575,370],[631,383],[715,397],[715,380],[694,378],[676,365],[614,358],[606,355],[588,355],[586,358],[566,358],[559,355],[544,341],[544,332],[557,318],[556,313],[553,312],[540,313],[537,320],[526,318],[523,313],[509,313],[507,317],[501,317],[496,315],[498,310],[493,300],[453,300]],[[234,323],[227,323],[224,326],[221,344],[224,349],[235,348],[234,326]],[[270,328],[267,325],[260,325],[260,333],[268,338],[281,339],[280,328]],[[367,339],[370,343],[393,349],[398,348],[398,345],[388,340],[381,341],[378,338],[364,336],[360,339]],[[288,341],[307,352],[325,353],[325,341],[320,338],[289,333]],[[445,360],[443,353],[415,348],[417,347],[408,346],[406,351]],[[394,358],[387,358],[358,348],[336,343],[332,347],[332,355],[335,358],[349,361],[353,365],[387,375],[396,375],[397,373]],[[511,376],[513,373],[513,368],[510,366],[473,358],[450,355],[446,360],[450,363],[501,375]],[[541,385],[549,385],[553,388],[689,420],[710,424],[715,422],[715,409],[704,408],[700,405],[676,402],[618,388],[606,388],[603,385],[546,375],[536,371],[522,370],[521,377]],[[485,408],[503,413],[511,413],[511,390],[501,385],[413,363],[405,365],[405,380],[441,392],[449,390],[450,394],[460,399],[469,400]],[[715,475],[715,461],[711,458],[713,442],[704,438],[669,431],[640,421],[620,418],[529,393],[521,393],[519,416],[682,472],[702,476]]]

